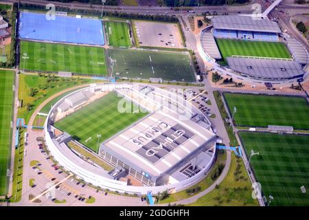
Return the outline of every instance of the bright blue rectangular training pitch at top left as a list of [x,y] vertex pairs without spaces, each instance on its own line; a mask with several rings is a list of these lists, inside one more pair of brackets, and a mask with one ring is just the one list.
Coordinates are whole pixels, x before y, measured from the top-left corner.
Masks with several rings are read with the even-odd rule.
[[45,14],[22,12],[20,21],[21,39],[104,45],[102,22],[99,19],[56,16],[55,20],[47,20]]

